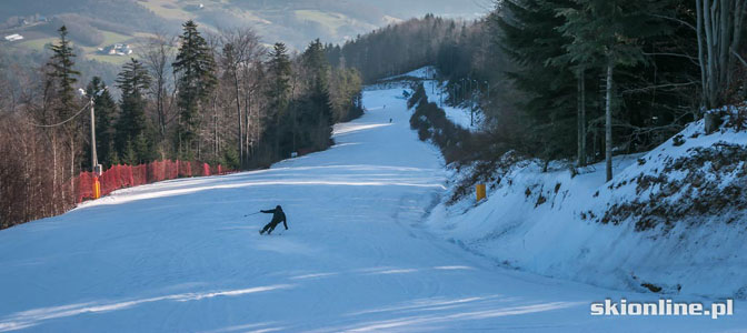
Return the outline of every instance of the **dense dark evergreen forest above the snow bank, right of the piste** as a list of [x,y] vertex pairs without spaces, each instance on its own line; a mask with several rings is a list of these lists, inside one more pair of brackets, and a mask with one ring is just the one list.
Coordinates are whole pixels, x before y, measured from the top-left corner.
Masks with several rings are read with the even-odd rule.
[[479,103],[485,144],[571,168],[647,151],[745,99],[743,1],[496,1],[484,19],[434,16],[327,46],[368,82],[435,64],[448,103]]

